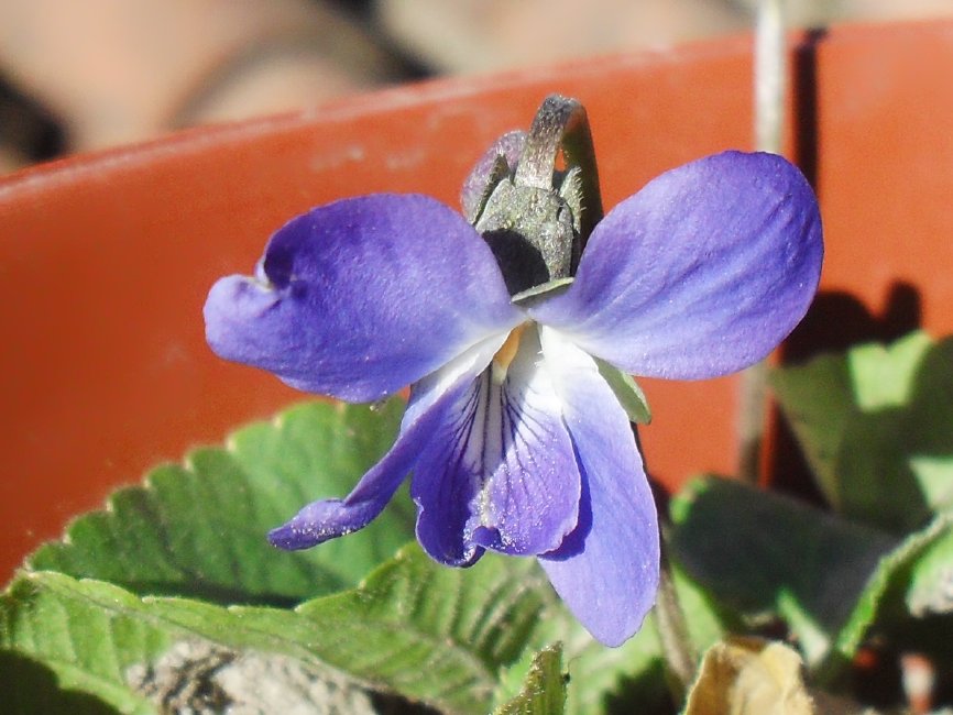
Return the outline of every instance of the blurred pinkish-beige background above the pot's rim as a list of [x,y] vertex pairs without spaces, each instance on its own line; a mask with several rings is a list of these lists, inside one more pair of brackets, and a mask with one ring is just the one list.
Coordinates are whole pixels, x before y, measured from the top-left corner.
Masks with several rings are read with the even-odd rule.
[[[746,31],[757,0],[0,0],[0,174],[425,77]],[[792,26],[953,0],[788,0]]]

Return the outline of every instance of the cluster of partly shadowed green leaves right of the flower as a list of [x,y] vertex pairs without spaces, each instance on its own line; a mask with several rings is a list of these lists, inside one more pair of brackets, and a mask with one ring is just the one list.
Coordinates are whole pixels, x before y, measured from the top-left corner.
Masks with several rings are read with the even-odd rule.
[[917,332],[771,382],[833,512],[701,480],[672,503],[681,563],[736,613],[782,617],[822,681],[872,627],[909,644],[929,616],[949,634],[953,340]]

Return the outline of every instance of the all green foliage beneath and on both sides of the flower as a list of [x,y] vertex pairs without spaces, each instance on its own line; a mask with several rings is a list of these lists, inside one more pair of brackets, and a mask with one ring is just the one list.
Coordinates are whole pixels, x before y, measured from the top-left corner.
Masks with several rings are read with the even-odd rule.
[[[949,622],[951,358],[953,342],[914,334],[775,374],[835,510],[716,479],[672,501],[676,585],[699,652],[725,622],[781,617],[823,680],[874,626],[906,642],[917,619]],[[647,419],[637,387],[607,378]],[[665,707],[651,616],[609,649],[532,559],[434,563],[404,546],[414,536],[406,490],[360,534],[304,552],[267,544],[267,530],[307,502],[348,493],[390,448],[401,411],[399,402],[296,407],[78,518],[0,596],[7,704],[152,713],[169,692],[163,672],[200,673],[211,684],[187,696],[226,702],[239,695],[216,673],[251,662],[447,713]],[[953,658],[953,629],[935,630],[944,636],[930,647]]]

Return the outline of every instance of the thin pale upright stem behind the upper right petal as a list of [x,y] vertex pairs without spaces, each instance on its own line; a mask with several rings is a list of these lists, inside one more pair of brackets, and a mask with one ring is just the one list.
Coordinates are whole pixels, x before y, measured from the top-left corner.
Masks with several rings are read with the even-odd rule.
[[[787,47],[784,0],[760,0],[755,29],[755,147],[780,154],[784,136]],[[756,483],[767,420],[766,362],[741,376],[738,408],[738,475]]]

